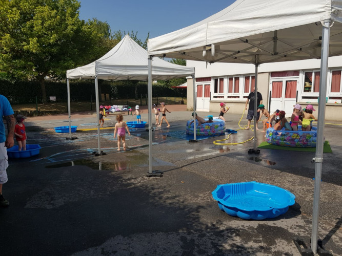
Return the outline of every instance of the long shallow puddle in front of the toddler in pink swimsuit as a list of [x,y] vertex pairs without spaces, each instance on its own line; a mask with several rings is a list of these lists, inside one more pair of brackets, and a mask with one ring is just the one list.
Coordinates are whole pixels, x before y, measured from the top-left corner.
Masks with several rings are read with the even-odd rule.
[[[136,166],[139,167],[148,167],[149,166],[149,157],[146,155],[135,155],[135,156],[127,156],[126,161],[115,161],[115,162],[93,162],[88,159],[79,159],[75,161],[52,164],[47,165],[45,168],[61,168],[67,166],[75,166],[75,165],[85,165],[95,170],[125,170],[128,168],[133,168]],[[168,163],[162,160],[153,159],[153,166],[174,166],[172,163]]]

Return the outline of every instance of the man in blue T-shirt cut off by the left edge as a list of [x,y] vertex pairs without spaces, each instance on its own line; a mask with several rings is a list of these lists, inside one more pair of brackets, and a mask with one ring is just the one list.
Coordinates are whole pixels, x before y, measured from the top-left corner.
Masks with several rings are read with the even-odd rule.
[[[0,95],[0,113],[3,118],[0,122],[0,206],[8,206],[9,202],[3,196],[3,184],[7,182],[6,169],[8,167],[7,148],[14,145],[14,112],[8,99]],[[5,133],[4,119],[7,123],[7,137]]]

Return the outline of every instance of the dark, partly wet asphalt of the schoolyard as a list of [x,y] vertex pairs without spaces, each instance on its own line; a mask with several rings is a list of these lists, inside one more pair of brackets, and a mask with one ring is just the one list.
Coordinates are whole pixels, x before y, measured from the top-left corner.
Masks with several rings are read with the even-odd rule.
[[[227,135],[191,143],[184,135],[191,112],[172,112],[167,118],[169,129],[164,123],[152,132],[152,166],[163,177],[150,178],[145,129],[131,129],[128,150],[117,152],[115,115],[107,116],[106,129],[100,131],[106,155],[95,156],[94,113],[72,118],[74,140],[53,129],[68,125],[67,116],[28,118],[27,143],[42,149],[37,156],[9,160],[3,194],[10,206],[0,208],[0,254],[300,255],[294,238],[310,246],[314,152],[261,148],[260,154],[248,154],[253,140],[213,143]],[[226,129],[239,129],[241,115],[225,118]],[[125,115],[124,120],[135,117]],[[245,124],[246,116],[240,121]],[[318,238],[333,255],[342,255],[341,135],[341,125],[325,126],[333,153],[324,153]],[[239,130],[223,143],[252,136],[251,130]],[[257,131],[256,144],[264,140]],[[245,181],[285,188],[296,203],[274,219],[229,216],[211,192],[218,184]]]

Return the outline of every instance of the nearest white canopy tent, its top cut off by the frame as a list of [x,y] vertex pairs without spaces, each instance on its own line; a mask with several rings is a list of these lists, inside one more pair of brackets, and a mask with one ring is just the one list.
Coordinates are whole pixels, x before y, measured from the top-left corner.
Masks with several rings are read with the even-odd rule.
[[[311,249],[314,253],[317,251],[328,57],[342,55],[341,22],[342,0],[237,0],[201,22],[148,41],[149,56],[210,63],[253,63],[255,78],[261,63],[321,58],[318,140],[313,159]],[[254,138],[255,135],[254,131]],[[255,143],[256,139],[254,150]]]

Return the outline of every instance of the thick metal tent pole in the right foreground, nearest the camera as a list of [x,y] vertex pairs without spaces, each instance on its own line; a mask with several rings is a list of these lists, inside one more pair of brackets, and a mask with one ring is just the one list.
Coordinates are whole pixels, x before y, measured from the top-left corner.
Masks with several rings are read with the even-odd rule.
[[324,146],[324,121],[326,113],[326,95],[327,95],[327,73],[329,57],[329,38],[330,38],[331,20],[324,20],[322,29],[322,47],[320,58],[320,79],[319,79],[319,102],[318,102],[318,122],[317,122],[317,142],[316,155],[312,160],[315,161],[315,184],[313,193],[313,211],[312,211],[312,232],[311,232],[311,250],[317,253],[317,234],[319,218],[319,200],[320,200],[320,180],[323,165],[323,146]]

